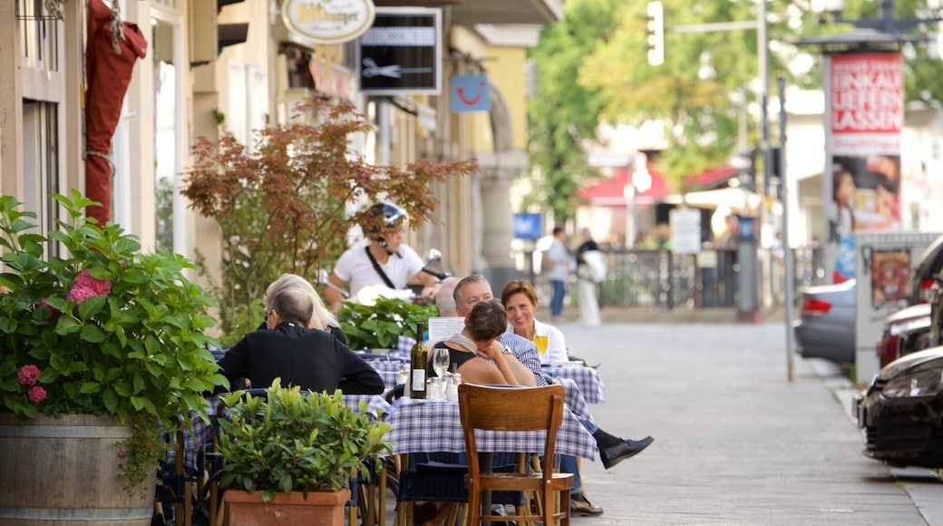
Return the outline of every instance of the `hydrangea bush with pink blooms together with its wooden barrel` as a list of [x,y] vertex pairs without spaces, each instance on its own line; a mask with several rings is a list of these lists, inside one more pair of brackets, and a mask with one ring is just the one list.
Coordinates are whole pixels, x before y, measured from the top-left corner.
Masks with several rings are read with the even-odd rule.
[[[74,484],[75,507],[122,507],[105,501],[126,493],[147,524],[167,451],[158,423],[203,413],[204,393],[225,383],[204,332],[212,302],[183,256],[142,254],[120,225],[83,217],[91,200],[54,197],[65,219],[43,235],[35,213],[0,196],[0,508],[67,508],[72,492],[54,488]],[[78,442],[43,441],[63,434]],[[111,461],[114,477],[82,472]]]

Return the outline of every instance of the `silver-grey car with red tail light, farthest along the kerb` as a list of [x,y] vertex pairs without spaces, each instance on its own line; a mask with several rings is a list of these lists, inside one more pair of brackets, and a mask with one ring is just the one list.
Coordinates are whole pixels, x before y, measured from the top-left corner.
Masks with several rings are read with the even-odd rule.
[[793,330],[802,357],[854,362],[854,283],[800,291],[800,317]]

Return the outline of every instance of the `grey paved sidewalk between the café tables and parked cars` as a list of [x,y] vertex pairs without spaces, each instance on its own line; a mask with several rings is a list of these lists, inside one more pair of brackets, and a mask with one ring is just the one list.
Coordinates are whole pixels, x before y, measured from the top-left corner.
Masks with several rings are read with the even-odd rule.
[[604,507],[574,523],[939,524],[943,484],[861,454],[851,384],[792,358],[785,323],[560,324],[571,353],[602,364],[600,426],[653,445],[605,470],[583,463]]

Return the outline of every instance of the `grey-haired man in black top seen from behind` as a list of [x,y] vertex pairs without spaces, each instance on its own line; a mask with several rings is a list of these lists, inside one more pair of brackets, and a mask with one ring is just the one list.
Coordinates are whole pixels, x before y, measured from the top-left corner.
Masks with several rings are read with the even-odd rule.
[[266,315],[267,329],[251,332],[223,354],[219,365],[230,384],[247,378],[253,386],[286,386],[313,392],[381,394],[383,379],[334,335],[307,328],[314,304],[303,290],[277,293]]

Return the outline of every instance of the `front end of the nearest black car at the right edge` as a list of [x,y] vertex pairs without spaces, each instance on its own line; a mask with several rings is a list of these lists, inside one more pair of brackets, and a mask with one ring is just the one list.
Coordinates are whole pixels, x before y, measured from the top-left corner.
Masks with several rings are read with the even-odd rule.
[[865,455],[891,466],[943,468],[943,347],[886,366],[854,409]]

